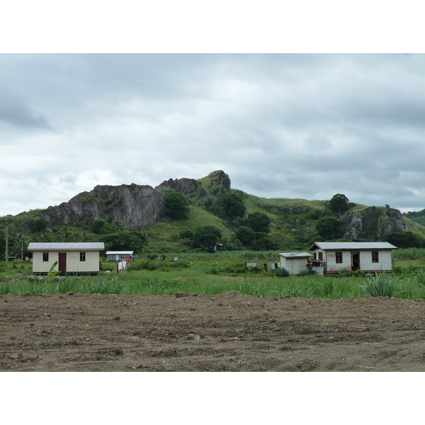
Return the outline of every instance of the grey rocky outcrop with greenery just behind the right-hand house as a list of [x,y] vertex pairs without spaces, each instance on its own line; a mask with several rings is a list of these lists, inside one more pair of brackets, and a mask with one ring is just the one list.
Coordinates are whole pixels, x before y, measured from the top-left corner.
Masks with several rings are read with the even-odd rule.
[[382,240],[389,232],[409,232],[409,226],[395,208],[368,207],[347,212],[341,219],[346,223],[344,238]]

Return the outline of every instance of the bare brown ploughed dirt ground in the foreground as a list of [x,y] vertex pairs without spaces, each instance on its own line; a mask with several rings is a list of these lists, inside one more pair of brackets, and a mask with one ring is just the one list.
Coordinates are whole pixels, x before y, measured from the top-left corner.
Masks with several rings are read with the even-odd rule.
[[1,371],[421,371],[425,300],[0,296]]

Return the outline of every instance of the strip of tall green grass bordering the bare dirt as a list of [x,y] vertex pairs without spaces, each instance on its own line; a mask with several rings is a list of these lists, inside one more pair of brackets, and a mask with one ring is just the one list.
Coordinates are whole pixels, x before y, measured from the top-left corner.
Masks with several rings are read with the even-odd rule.
[[[143,272],[143,271],[142,271]],[[134,272],[118,276],[96,276],[89,278],[62,278],[55,280],[27,280],[0,282],[0,295],[23,293],[57,294],[137,294],[169,295],[180,290],[186,293],[215,295],[237,291],[244,295],[279,297],[314,297],[341,299],[347,297],[400,297],[424,298],[425,285],[413,276],[402,277],[379,274],[366,280],[358,278],[336,278],[329,276],[290,276],[271,278],[262,276],[220,276],[196,273],[170,276],[166,272]],[[168,276],[168,277],[167,277]],[[197,277],[196,277],[197,276]]]

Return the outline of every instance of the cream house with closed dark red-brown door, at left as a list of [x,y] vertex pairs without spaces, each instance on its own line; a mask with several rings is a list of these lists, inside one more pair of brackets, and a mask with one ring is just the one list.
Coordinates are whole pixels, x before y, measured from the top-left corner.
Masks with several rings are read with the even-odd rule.
[[61,274],[98,274],[103,242],[31,242],[33,273],[46,274],[57,261],[53,271]]

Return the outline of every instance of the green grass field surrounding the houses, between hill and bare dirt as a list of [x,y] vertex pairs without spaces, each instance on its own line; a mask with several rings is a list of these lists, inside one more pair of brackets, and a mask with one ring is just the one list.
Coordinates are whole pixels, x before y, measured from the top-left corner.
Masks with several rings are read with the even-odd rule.
[[[249,268],[245,261],[277,262],[275,251],[228,251],[217,254],[181,253],[165,259],[141,256],[128,271],[115,273],[113,263],[103,263],[99,276],[31,276],[31,264],[21,261],[0,263],[0,295],[30,293],[100,293],[169,295],[177,291],[215,295],[237,291],[263,297],[347,297],[387,296],[425,298],[425,250],[399,249],[395,252],[395,273],[379,276],[290,276],[278,278],[262,268]],[[110,273],[106,273],[109,271]]]

